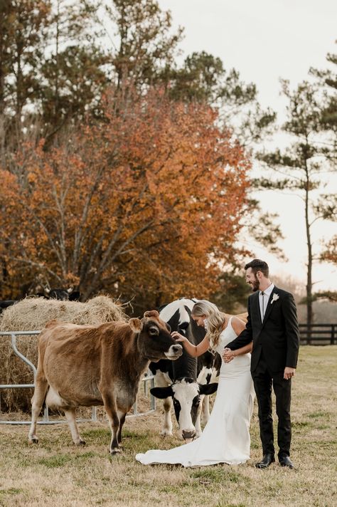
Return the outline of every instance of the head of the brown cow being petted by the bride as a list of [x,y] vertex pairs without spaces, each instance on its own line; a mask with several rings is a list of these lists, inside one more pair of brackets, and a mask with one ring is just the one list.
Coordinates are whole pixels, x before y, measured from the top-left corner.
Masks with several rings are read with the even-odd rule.
[[139,335],[139,352],[149,361],[175,360],[183,353],[183,347],[171,337],[170,326],[156,310],[145,312],[142,319],[131,318],[129,325]]

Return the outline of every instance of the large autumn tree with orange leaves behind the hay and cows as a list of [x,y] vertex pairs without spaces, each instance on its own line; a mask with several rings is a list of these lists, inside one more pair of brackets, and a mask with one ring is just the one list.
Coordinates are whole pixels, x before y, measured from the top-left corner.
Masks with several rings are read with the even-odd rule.
[[[206,297],[235,258],[250,162],[206,105],[107,95],[104,121],[23,145],[0,188],[2,297],[43,275],[150,308]],[[26,284],[26,285],[25,285]]]

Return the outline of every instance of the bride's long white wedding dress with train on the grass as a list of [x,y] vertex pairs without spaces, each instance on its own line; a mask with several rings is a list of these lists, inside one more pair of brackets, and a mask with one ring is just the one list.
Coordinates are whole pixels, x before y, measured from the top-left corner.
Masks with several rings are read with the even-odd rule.
[[[221,355],[236,338],[231,318],[220,334],[216,347]],[[239,355],[221,365],[218,391],[210,419],[201,436],[173,449],[153,449],[137,454],[144,465],[166,463],[183,466],[206,466],[217,463],[237,465],[250,459],[250,417],[254,388],[250,375],[250,354]]]

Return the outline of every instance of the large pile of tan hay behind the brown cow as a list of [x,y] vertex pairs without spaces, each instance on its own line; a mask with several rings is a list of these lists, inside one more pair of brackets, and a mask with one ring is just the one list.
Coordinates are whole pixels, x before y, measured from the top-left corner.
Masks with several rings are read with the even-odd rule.
[[[102,324],[127,320],[121,305],[108,296],[97,296],[80,303],[43,298],[26,298],[7,308],[0,317],[0,331],[33,331],[44,328],[48,320],[75,324]],[[16,338],[18,350],[38,365],[38,335]],[[11,337],[0,335],[0,384],[32,384],[33,372],[11,348]],[[1,412],[30,412],[33,389],[1,390]]]

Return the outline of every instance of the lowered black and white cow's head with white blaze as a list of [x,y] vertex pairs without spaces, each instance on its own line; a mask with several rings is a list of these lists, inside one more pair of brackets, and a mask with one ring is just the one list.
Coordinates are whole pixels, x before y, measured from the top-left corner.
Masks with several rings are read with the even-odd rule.
[[201,410],[200,396],[212,394],[218,389],[217,383],[199,384],[193,379],[176,380],[168,387],[153,387],[150,392],[156,398],[172,397],[174,412],[184,440],[196,437],[196,419]]

